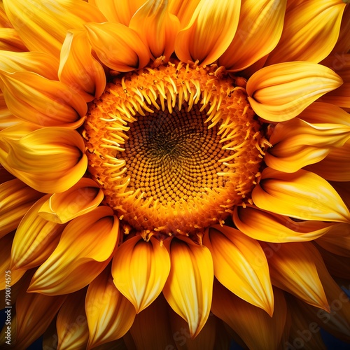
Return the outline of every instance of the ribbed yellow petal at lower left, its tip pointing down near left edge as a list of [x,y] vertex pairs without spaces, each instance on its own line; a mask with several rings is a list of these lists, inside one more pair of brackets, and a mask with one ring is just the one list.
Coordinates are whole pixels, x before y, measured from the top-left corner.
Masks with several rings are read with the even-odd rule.
[[31,269],[41,265],[55,250],[64,225],[38,216],[38,210],[48,200],[45,195],[25,214],[16,230],[11,250],[12,269]]

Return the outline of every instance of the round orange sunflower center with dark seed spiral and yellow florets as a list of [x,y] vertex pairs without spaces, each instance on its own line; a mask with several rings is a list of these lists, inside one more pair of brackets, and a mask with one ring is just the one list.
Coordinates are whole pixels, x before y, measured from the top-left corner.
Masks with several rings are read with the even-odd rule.
[[121,220],[188,235],[251,202],[267,141],[241,80],[169,62],[107,84],[83,137],[89,172]]

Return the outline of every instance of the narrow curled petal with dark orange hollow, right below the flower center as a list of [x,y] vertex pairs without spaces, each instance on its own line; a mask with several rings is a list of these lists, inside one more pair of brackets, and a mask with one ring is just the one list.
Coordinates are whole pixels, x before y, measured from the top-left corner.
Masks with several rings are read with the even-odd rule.
[[340,228],[346,225],[321,221],[293,221],[288,216],[251,207],[236,207],[233,221],[244,235],[273,243],[312,241],[327,232],[332,232],[338,226]]

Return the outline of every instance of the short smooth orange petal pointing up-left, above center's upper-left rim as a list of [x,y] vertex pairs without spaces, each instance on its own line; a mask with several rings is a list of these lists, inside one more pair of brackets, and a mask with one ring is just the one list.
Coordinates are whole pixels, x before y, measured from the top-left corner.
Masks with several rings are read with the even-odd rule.
[[97,57],[115,71],[133,71],[148,64],[150,52],[137,32],[120,23],[87,23]]

